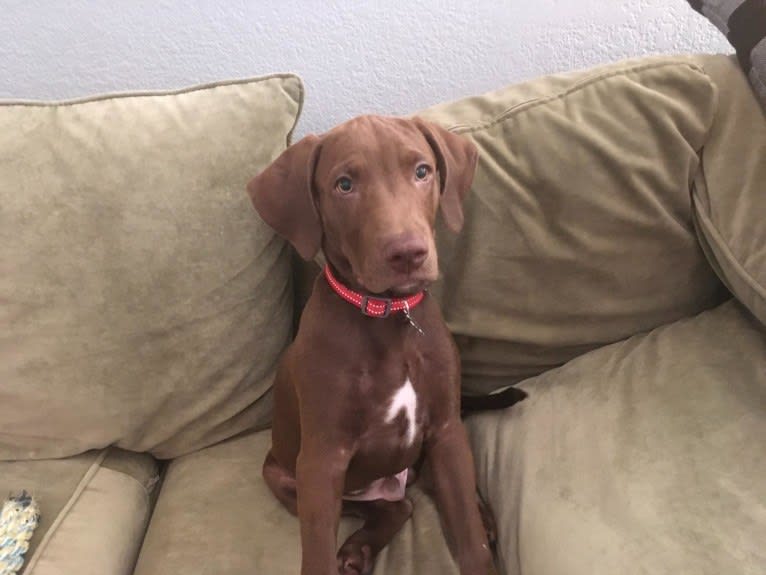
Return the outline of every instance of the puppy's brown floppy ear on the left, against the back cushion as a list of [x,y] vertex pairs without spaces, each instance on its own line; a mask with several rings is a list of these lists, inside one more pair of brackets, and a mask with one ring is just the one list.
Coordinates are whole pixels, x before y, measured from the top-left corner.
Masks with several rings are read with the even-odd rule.
[[306,260],[313,258],[322,244],[322,226],[311,189],[320,141],[318,136],[306,136],[247,185],[261,218]]

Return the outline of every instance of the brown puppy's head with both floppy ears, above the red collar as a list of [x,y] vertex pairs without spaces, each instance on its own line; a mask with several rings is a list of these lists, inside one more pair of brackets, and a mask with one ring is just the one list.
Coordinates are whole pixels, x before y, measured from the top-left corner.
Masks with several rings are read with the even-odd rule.
[[290,146],[247,189],[305,259],[321,247],[353,287],[401,295],[436,279],[436,211],[460,230],[476,159],[435,124],[360,116]]

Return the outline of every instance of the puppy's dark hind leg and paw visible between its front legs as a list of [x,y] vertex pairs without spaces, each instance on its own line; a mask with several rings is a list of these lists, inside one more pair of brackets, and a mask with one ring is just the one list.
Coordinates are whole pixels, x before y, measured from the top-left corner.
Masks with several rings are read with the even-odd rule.
[[340,575],[369,575],[375,557],[398,533],[412,515],[412,501],[344,501],[343,514],[364,519],[364,525],[351,534],[338,551]]

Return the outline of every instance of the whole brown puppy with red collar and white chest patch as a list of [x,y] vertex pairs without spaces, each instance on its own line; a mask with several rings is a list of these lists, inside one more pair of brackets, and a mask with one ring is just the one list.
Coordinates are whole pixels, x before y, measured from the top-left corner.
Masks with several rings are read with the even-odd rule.
[[[460,419],[460,365],[436,302],[434,224],[458,231],[477,152],[421,120],[362,116],[288,148],[248,186],[306,259],[324,251],[274,384],[264,477],[301,525],[303,575],[372,571],[412,513],[423,462],[463,575],[494,573]],[[341,511],[364,526],[336,553]]]

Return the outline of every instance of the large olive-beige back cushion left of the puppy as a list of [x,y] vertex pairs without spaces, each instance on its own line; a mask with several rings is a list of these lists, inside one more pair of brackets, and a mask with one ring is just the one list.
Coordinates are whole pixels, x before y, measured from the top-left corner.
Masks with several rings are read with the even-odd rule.
[[248,179],[293,76],[0,105],[0,459],[172,457],[268,423],[290,252]]

